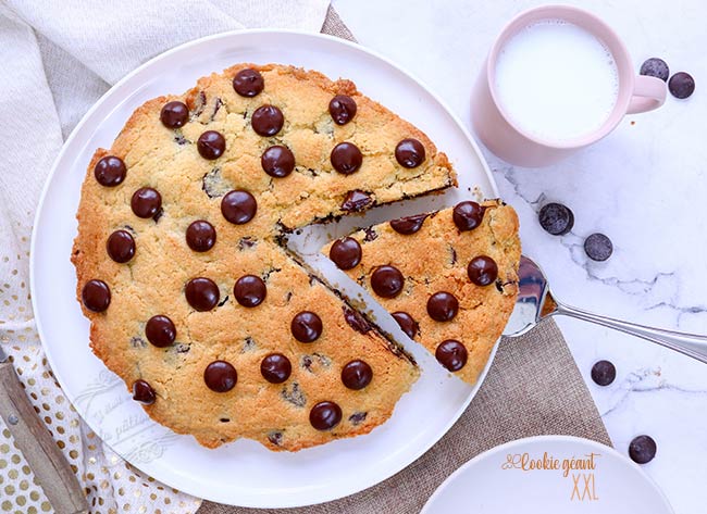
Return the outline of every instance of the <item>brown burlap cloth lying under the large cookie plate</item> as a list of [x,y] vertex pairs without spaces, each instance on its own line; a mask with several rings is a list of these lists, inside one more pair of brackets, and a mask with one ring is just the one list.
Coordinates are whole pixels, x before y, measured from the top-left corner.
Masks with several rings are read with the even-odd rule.
[[[355,40],[330,9],[322,32]],[[592,396],[554,321],[504,338],[477,394],[427,453],[389,479],[350,497],[301,509],[243,509],[204,501],[197,514],[413,514],[454,471],[489,448],[562,434],[611,444]]]

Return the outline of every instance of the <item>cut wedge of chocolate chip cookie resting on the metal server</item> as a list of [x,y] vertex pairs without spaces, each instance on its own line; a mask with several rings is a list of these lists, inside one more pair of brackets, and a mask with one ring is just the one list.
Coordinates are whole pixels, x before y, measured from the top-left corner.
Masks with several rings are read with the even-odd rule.
[[474,384],[518,293],[518,216],[498,200],[395,220],[323,250],[447,369]]

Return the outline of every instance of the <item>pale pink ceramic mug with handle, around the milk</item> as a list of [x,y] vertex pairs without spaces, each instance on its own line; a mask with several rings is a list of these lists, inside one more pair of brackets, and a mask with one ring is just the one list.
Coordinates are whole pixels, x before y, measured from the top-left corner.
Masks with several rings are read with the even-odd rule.
[[[504,111],[495,91],[496,61],[500,49],[518,32],[544,20],[562,20],[590,32],[604,42],[617,64],[619,90],[613,110],[598,129],[578,138],[549,141],[522,130]],[[652,111],[662,105],[665,100],[666,84],[656,77],[634,74],[627,48],[606,23],[574,7],[544,5],[519,14],[501,30],[474,86],[471,117],[474,131],[497,156],[519,166],[539,167],[598,141],[613,130],[625,114]]]

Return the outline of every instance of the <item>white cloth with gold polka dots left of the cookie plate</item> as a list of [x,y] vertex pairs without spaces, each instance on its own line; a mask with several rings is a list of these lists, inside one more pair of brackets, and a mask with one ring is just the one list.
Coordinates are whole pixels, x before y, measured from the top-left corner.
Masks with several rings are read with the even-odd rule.
[[[112,84],[166,49],[243,27],[319,32],[327,7],[328,0],[172,0],[169,9],[145,0],[0,0],[0,344],[84,486],[91,512],[185,514],[200,500],[145,476],[104,446],[47,365],[29,298],[29,237],[63,137]],[[74,291],[55,301],[75,301]],[[53,511],[0,419],[3,512]]]

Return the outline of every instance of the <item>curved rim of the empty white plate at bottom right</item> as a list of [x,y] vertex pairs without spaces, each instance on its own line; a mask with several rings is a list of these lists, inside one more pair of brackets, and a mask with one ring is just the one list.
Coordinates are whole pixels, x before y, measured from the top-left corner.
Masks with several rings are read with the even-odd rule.
[[658,485],[648,476],[646,475],[643,469],[641,469],[636,464],[633,462],[629,461],[625,456],[623,456],[621,453],[616,451],[613,448],[608,447],[606,444],[601,444],[600,442],[593,441],[592,439],[584,439],[582,437],[575,437],[575,436],[534,436],[534,437],[525,437],[523,439],[516,439],[513,441],[506,442],[504,444],[500,444],[498,447],[494,447],[489,450],[486,450],[485,452],[480,453],[479,455],[474,456],[471,461],[464,463],[461,467],[459,467],[456,472],[454,472],[451,475],[449,475],[445,481],[442,482],[442,485],[434,491],[434,493],[430,497],[427,502],[424,504],[422,507],[422,511],[420,511],[420,514],[430,514],[430,511],[434,504],[434,502],[439,498],[442,494],[444,494],[445,490],[454,482],[457,480],[459,476],[461,476],[467,469],[470,467],[476,465],[481,461],[485,461],[486,459],[492,459],[496,455],[503,455],[505,453],[512,453],[512,450],[519,447],[524,447],[526,444],[533,444],[535,442],[568,442],[568,443],[575,443],[575,444],[584,444],[587,447],[591,447],[592,449],[596,450],[597,452],[604,452],[604,453],[610,453],[615,457],[618,457],[620,461],[624,462],[624,464],[632,466],[636,468],[643,477],[645,478],[646,482],[650,486],[652,489],[654,489],[658,496],[662,499],[663,506],[666,507],[666,512],[672,513],[672,506],[668,502],[668,498],[666,494],[662,492],[662,490],[658,487]]

